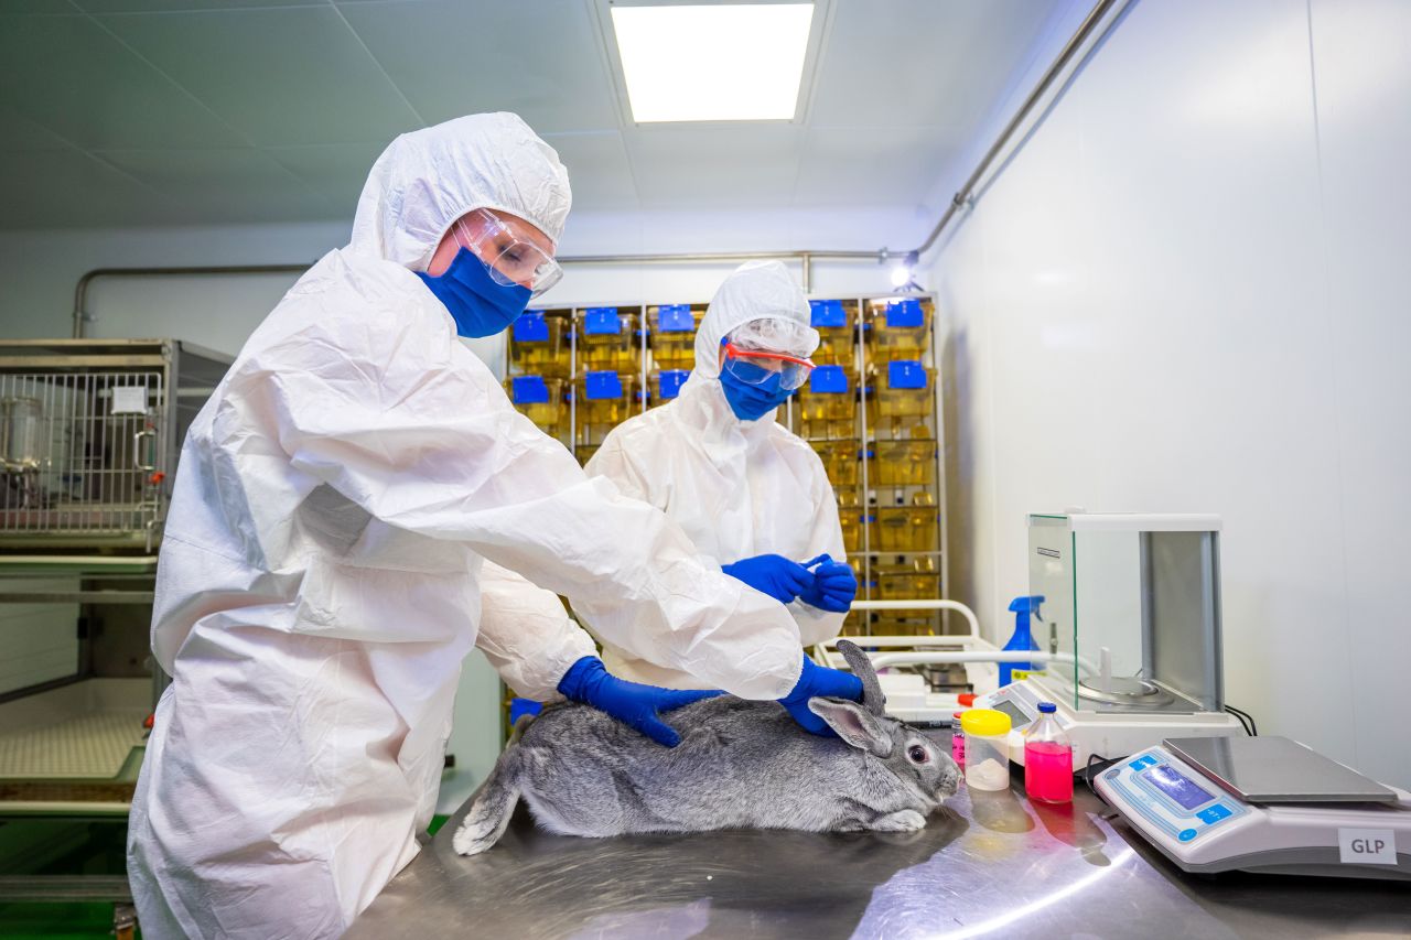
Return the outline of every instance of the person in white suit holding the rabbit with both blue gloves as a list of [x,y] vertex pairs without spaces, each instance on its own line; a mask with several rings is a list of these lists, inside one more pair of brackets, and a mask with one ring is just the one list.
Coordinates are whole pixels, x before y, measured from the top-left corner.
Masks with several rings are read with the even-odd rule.
[[[861,696],[793,618],[515,412],[459,340],[557,274],[557,155],[512,114],[396,138],[346,248],[246,343],[182,450],[157,576],[157,707],[128,836],[148,937],[333,937],[418,852],[461,659],[658,741],[698,697],[618,680],[546,615],[796,709]],[[562,611],[562,607],[559,607]],[[854,680],[855,682],[855,680]]]

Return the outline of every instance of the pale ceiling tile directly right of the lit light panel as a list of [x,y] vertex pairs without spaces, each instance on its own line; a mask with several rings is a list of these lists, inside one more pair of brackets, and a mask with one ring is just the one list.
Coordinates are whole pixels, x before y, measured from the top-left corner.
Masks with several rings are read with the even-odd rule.
[[838,0],[811,127],[974,131],[1061,0]]

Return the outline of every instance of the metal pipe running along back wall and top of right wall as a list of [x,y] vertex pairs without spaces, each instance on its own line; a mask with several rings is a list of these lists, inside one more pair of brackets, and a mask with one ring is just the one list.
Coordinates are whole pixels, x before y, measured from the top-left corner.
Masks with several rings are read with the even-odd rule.
[[[566,255],[559,258],[560,264],[722,264],[729,261],[756,261],[756,260],[780,260],[780,261],[794,261],[797,260],[803,268],[803,289],[810,292],[813,289],[813,263],[817,260],[828,261],[876,261],[885,264],[890,258],[907,258],[914,263],[916,258],[930,251],[935,241],[945,231],[945,227],[951,220],[959,213],[961,207],[965,206],[974,196],[975,191],[983,179],[985,174],[991,169],[999,155],[1009,145],[1013,135],[1024,124],[1033,110],[1038,106],[1043,97],[1054,86],[1054,82],[1062,75],[1064,69],[1074,61],[1079,49],[1098,34],[1099,27],[1106,23],[1116,23],[1118,17],[1109,18],[1113,10],[1126,8],[1133,0],[1099,0],[1088,16],[1079,24],[1078,30],[1068,38],[1064,48],[1058,52],[1058,56],[1053,61],[1043,76],[1034,85],[1033,90],[1024,97],[1024,102],[1015,112],[1015,116],[1005,124],[1005,128],[995,138],[995,143],[989,145],[985,155],[981,157],[979,164],[967,176],[964,185],[951,196],[951,205],[945,207],[945,212],[937,220],[931,233],[926,237],[919,247],[910,251],[892,251],[889,248],[878,250],[856,250],[856,251],[720,251],[720,253],[683,253],[683,254],[581,254],[581,255]],[[1120,10],[1119,10],[1120,13]],[[202,275],[202,274],[302,274],[310,265],[308,264],[247,264],[247,265],[227,265],[227,267],[166,267],[166,268],[96,268],[89,271],[82,278],[79,278],[78,288],[73,292],[73,336],[76,339],[83,336],[83,325],[87,322],[87,315],[85,312],[85,303],[87,301],[89,285],[103,277],[164,277],[164,275]]]

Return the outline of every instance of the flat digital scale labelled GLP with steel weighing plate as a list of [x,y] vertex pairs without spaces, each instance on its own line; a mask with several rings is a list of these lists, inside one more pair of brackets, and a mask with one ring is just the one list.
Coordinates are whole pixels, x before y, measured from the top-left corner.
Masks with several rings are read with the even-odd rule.
[[1411,793],[1288,738],[1171,738],[1094,786],[1189,872],[1411,881]]

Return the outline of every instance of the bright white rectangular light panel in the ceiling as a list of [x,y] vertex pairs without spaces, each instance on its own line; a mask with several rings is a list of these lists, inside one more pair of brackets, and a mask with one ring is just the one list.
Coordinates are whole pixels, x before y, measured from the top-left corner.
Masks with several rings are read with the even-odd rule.
[[632,120],[793,120],[811,3],[614,6]]

